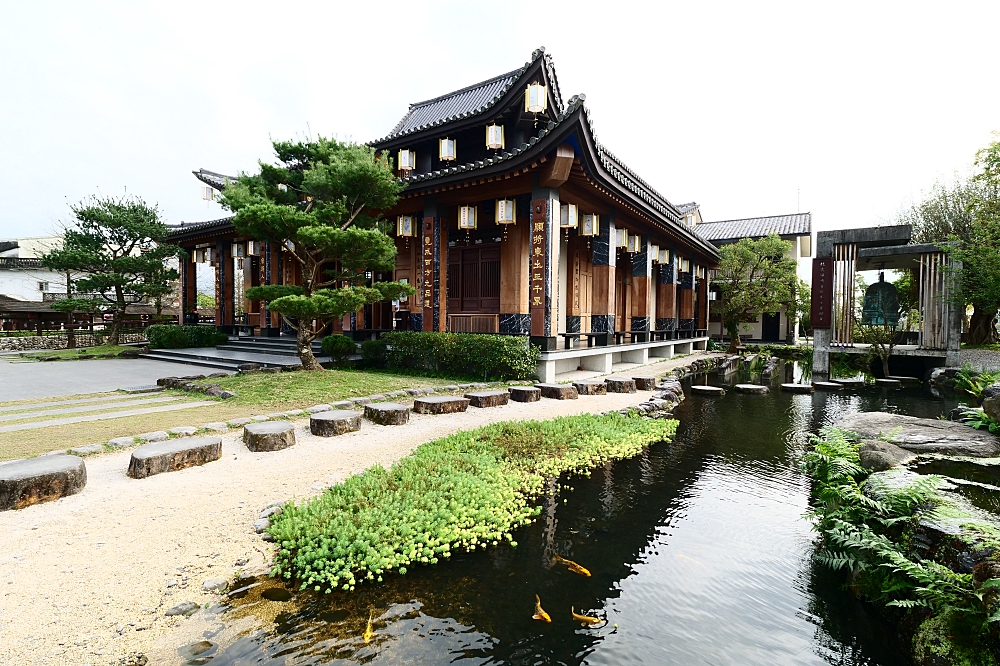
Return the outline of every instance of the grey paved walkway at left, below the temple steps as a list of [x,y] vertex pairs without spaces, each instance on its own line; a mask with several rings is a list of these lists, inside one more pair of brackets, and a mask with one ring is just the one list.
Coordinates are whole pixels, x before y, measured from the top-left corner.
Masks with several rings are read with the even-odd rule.
[[10,363],[0,357],[0,402],[117,391],[155,384],[160,377],[204,375],[206,370],[141,358]]

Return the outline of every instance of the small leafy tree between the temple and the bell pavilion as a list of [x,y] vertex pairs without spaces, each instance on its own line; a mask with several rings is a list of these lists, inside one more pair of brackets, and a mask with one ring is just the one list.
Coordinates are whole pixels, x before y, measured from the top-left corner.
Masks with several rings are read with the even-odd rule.
[[774,312],[792,298],[795,261],[787,254],[792,244],[777,234],[744,238],[719,249],[719,270],[713,282],[719,289],[722,325],[729,333],[729,353],[736,353],[740,324],[762,312]]

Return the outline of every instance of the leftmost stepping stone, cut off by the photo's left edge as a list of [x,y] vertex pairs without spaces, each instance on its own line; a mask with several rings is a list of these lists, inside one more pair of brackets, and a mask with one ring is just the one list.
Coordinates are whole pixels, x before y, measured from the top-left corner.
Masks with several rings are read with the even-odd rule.
[[79,456],[39,456],[0,465],[0,511],[75,495],[87,485]]

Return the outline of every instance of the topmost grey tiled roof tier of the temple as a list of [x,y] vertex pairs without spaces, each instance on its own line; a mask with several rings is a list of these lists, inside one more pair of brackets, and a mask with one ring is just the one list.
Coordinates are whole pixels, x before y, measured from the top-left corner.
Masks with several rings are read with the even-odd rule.
[[410,110],[396,123],[392,131],[387,136],[373,141],[372,144],[382,143],[383,141],[395,139],[404,134],[443,125],[453,120],[468,118],[469,116],[486,111],[496,104],[510,87],[521,78],[521,75],[539,58],[544,59],[545,72],[552,84],[552,92],[558,105],[555,111],[556,113],[561,112],[562,96],[559,92],[559,84],[556,81],[552,56],[546,54],[545,48],[542,47],[536,49],[531,54],[531,60],[524,63],[523,67],[515,69],[512,72],[495,76],[492,79],[450,92],[447,95],[411,104]]

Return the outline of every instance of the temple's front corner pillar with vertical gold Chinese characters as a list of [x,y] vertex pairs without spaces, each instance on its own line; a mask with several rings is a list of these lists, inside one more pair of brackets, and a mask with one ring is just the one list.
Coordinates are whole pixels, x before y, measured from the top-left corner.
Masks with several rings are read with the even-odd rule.
[[553,351],[559,325],[559,190],[532,188],[530,219],[531,341],[542,351]]

